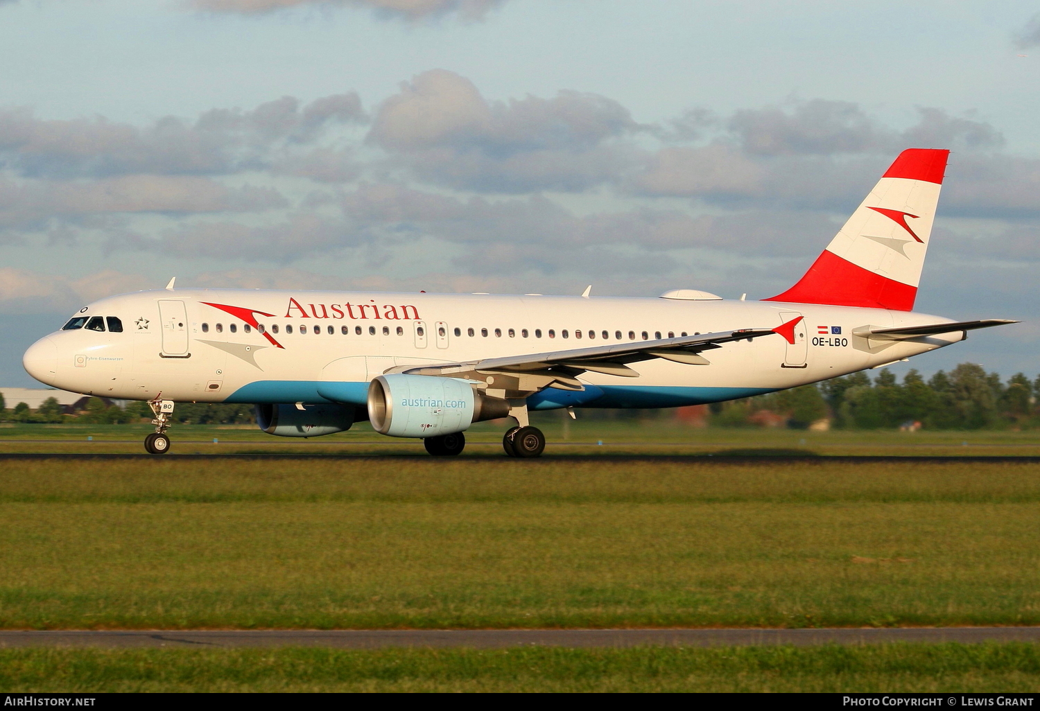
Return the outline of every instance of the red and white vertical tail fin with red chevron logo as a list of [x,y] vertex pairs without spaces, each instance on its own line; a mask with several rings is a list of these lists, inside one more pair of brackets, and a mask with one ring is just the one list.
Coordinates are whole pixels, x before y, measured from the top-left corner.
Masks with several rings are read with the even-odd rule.
[[948,155],[901,153],[798,284],[763,300],[911,311]]

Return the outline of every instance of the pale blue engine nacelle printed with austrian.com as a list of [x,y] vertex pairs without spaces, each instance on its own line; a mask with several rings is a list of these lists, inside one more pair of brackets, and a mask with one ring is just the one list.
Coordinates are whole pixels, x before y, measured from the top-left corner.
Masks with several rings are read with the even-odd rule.
[[368,385],[368,420],[390,437],[451,434],[509,414],[509,400],[488,397],[459,378],[391,374]]

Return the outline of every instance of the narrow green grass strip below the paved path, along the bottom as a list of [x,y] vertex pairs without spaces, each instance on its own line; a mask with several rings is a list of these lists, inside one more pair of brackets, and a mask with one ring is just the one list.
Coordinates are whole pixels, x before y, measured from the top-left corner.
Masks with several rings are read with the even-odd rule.
[[1040,646],[0,650],[0,692],[1036,692]]

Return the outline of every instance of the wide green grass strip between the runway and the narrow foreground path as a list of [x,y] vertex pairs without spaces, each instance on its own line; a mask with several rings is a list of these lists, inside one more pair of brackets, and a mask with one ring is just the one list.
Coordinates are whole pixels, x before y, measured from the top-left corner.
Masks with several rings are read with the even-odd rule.
[[995,460],[8,460],[0,627],[1036,625],[1038,515]]

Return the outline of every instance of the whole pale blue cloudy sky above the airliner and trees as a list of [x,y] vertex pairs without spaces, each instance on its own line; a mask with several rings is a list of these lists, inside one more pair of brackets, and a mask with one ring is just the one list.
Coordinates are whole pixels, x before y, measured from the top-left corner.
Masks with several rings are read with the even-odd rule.
[[0,385],[173,275],[772,296],[908,147],[954,151],[917,309],[1025,321],[912,365],[1035,375],[1037,9],[0,0]]

